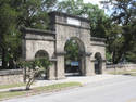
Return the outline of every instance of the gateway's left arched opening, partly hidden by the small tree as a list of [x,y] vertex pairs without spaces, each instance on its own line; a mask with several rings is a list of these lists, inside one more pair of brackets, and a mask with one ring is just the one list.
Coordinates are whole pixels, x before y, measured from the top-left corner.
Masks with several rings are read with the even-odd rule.
[[[49,61],[49,54],[45,50],[39,50],[35,54],[35,59],[45,59]],[[48,69],[45,69],[40,76],[37,76],[37,79],[47,79],[48,78]]]

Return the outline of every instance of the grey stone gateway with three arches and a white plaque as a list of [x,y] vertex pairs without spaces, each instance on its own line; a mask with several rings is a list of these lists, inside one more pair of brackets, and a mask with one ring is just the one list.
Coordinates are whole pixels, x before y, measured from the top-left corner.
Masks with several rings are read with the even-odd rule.
[[48,79],[65,78],[64,47],[69,39],[74,39],[79,46],[82,75],[104,73],[104,39],[91,37],[88,20],[60,12],[49,13],[49,18],[50,30],[24,28],[23,59],[32,60],[45,55],[52,62]]

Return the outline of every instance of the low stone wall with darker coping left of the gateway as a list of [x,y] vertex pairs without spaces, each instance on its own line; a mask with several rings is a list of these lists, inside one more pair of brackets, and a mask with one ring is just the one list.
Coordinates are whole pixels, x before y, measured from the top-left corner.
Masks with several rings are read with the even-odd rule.
[[0,85],[10,85],[23,82],[22,69],[0,71]]

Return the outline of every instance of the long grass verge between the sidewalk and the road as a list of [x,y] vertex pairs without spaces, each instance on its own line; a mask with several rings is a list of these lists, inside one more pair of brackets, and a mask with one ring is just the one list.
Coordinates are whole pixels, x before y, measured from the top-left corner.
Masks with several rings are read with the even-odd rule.
[[14,97],[34,95],[37,93],[55,91],[55,90],[61,90],[64,88],[71,88],[71,87],[77,87],[77,86],[82,86],[82,85],[79,82],[63,82],[63,84],[45,86],[45,87],[37,87],[28,91],[26,90],[5,91],[5,92],[0,92],[0,100],[14,98]]

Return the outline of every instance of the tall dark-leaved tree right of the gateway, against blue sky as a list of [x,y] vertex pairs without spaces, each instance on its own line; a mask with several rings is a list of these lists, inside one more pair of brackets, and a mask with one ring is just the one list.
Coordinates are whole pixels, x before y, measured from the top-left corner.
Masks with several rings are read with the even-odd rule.
[[[112,5],[112,24],[120,27],[118,35],[112,42],[113,63],[127,58],[127,52],[134,48],[136,21],[136,1],[135,0],[104,0],[104,5]],[[111,34],[112,35],[112,34]],[[135,53],[134,53],[135,54]],[[134,58],[133,58],[134,59]],[[128,58],[127,58],[128,60]],[[129,61],[129,60],[128,60]]]

